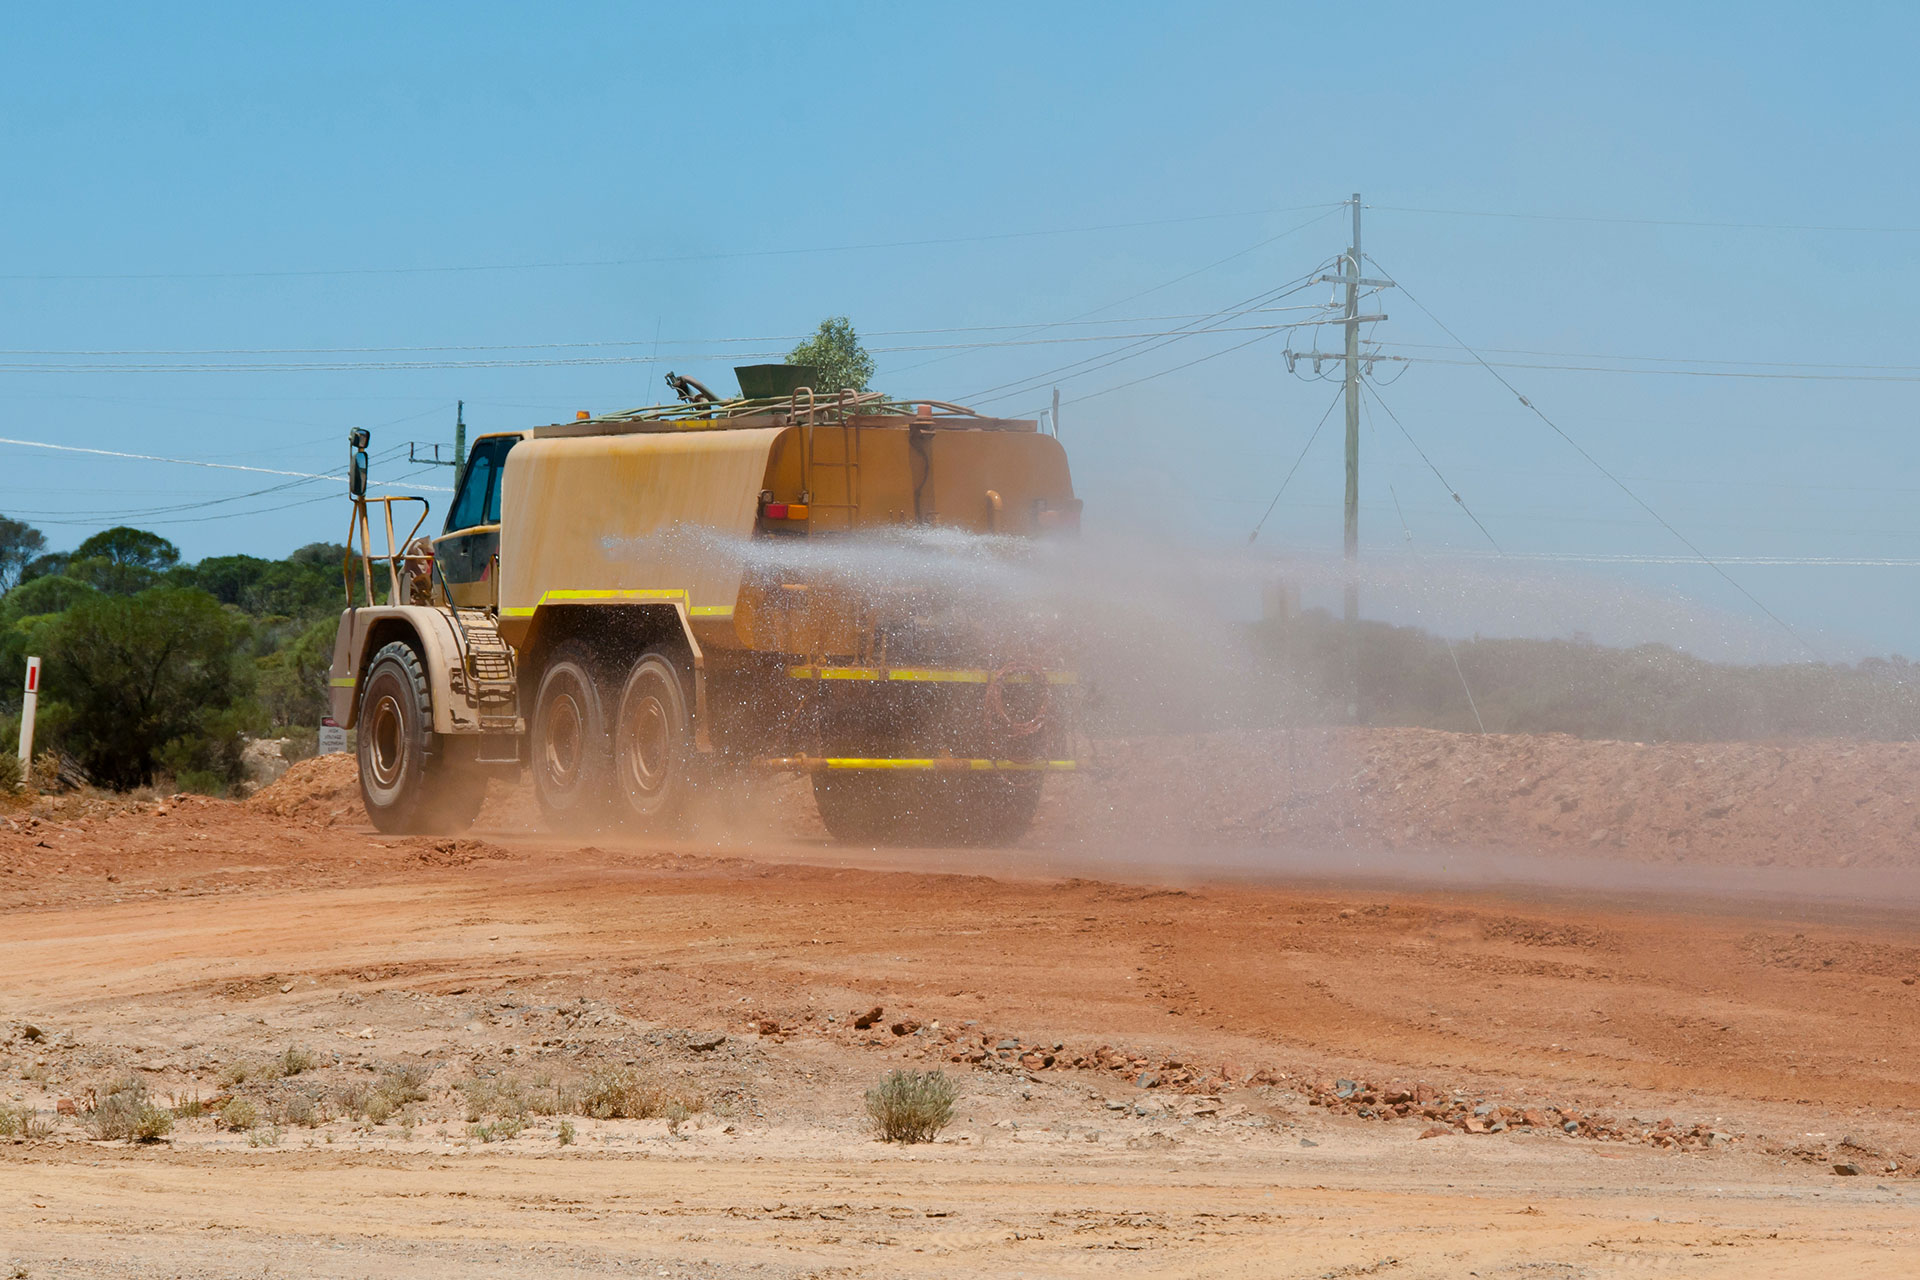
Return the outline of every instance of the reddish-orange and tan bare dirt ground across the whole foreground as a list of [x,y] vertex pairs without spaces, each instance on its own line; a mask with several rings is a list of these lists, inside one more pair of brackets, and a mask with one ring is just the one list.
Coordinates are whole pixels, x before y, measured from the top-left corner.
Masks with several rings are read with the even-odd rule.
[[[1920,1255],[1907,908],[1125,883],[1020,854],[927,873],[906,867],[973,856],[614,848],[497,814],[396,841],[328,804],[0,837],[0,1100],[52,1125],[0,1140],[0,1263],[1895,1276]],[[960,1079],[941,1142],[872,1140],[862,1090],[891,1067]],[[530,1102],[620,1069],[685,1105]],[[54,1115],[129,1075],[257,1123],[129,1146]],[[419,1098],[372,1111],[401,1077]]]

